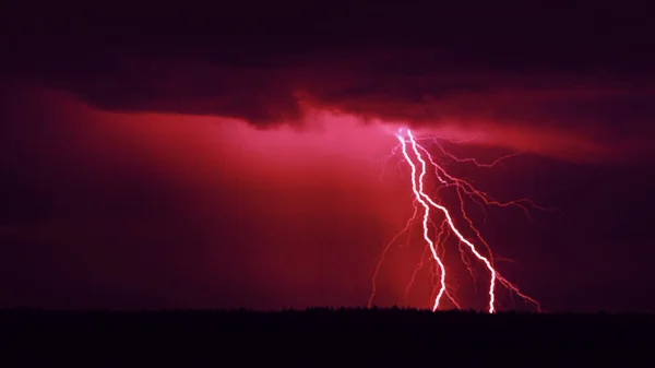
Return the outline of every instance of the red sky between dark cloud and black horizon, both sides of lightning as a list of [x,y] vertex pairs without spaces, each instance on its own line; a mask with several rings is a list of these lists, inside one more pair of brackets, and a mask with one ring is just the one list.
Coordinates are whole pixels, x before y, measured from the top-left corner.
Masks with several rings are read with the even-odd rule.
[[[16,192],[9,207],[17,211],[5,216],[1,235],[10,245],[3,280],[12,289],[4,305],[358,306],[368,298],[382,248],[412,213],[406,167],[394,159],[383,164],[397,142],[393,121],[365,123],[353,115],[312,109],[302,130],[262,130],[219,117],[102,111],[62,92],[14,91],[10,116],[22,124],[8,140],[13,146],[4,149],[5,157],[14,157],[5,159],[4,170],[16,181],[5,185],[5,193]],[[620,206],[590,204],[587,198],[597,194],[575,176],[598,170],[590,161],[606,157],[607,147],[587,141],[582,152],[552,151],[575,136],[493,123],[422,128],[417,134],[432,132],[474,139],[455,152],[481,161],[526,152],[497,168],[452,170],[501,200],[531,197],[563,207],[562,214],[535,213],[540,225],[520,210],[490,210],[489,223],[480,227],[500,256],[517,262],[501,263],[501,270],[524,290],[546,295],[546,308],[549,301],[565,306],[558,293],[574,294],[581,283],[598,283],[598,275],[611,270],[606,245],[595,256],[584,254],[596,247],[585,242],[590,221],[575,224],[580,214],[611,216]],[[599,154],[590,155],[586,147]],[[11,167],[15,157],[20,165]],[[617,188],[606,191],[617,195]],[[631,239],[622,247],[641,249],[644,241]],[[392,248],[378,302],[430,306],[426,275],[404,299],[421,250],[418,240]],[[456,259],[450,261],[464,284],[461,298],[484,304],[466,289]],[[587,275],[576,274],[577,268]],[[617,268],[618,280],[639,272]],[[552,276],[553,270],[559,275]],[[574,278],[567,280],[567,273]]]

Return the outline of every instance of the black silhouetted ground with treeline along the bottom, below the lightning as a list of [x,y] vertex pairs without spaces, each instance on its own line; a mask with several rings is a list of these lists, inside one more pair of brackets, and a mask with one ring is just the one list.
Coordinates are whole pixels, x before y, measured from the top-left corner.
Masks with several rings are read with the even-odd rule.
[[655,317],[401,309],[0,312],[3,367],[655,367]]

